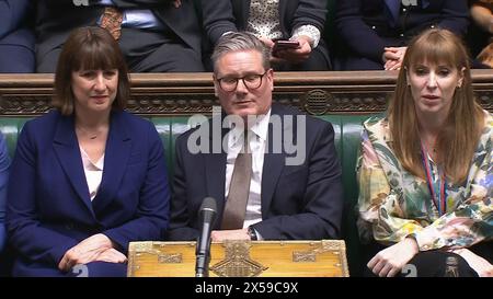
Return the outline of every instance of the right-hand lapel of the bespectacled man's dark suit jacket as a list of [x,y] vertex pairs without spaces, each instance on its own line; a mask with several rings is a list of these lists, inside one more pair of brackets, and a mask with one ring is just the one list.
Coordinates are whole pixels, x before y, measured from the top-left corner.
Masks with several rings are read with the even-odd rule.
[[[279,107],[276,104],[272,105],[271,115],[283,116],[279,112]],[[284,120],[282,119],[283,130],[286,130]],[[262,215],[263,217],[267,215],[268,207],[271,206],[272,197],[277,186],[277,181],[279,180],[280,173],[286,163],[286,153],[284,149],[280,153],[275,153],[273,151],[273,126],[272,123],[268,124],[268,135],[267,135],[267,153],[264,156],[264,165],[262,168]],[[279,133],[276,133],[279,134]],[[283,131],[282,138],[286,136]]]

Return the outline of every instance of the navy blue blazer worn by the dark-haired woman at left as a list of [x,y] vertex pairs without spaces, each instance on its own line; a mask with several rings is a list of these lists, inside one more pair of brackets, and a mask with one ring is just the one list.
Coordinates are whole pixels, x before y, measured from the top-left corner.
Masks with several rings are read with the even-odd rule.
[[159,240],[168,228],[163,146],[150,122],[129,113],[112,113],[93,202],[72,116],[53,111],[27,122],[11,171],[16,180],[9,182],[7,229],[19,253],[14,273],[15,267],[56,268],[70,248],[95,233],[126,254],[128,242]]

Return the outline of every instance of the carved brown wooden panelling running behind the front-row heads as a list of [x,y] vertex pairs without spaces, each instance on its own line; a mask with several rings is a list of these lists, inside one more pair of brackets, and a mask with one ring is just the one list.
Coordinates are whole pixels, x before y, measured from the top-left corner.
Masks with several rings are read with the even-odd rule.
[[[213,76],[133,73],[130,112],[142,115],[208,114],[219,105]],[[276,72],[274,101],[313,115],[365,114],[385,111],[397,71]],[[0,115],[38,115],[48,111],[53,74],[0,74]],[[493,70],[473,70],[474,92],[493,112]]]

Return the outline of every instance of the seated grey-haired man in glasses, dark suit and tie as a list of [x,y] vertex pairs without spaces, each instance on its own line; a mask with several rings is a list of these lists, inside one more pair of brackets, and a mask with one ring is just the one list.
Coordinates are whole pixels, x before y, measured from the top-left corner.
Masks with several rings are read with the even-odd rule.
[[[168,239],[195,240],[207,196],[217,199],[215,241],[341,237],[334,130],[330,123],[272,104],[268,56],[250,33],[231,33],[218,42],[214,83],[222,113],[176,140]],[[241,166],[240,159],[250,162]],[[243,171],[248,179],[237,180]]]

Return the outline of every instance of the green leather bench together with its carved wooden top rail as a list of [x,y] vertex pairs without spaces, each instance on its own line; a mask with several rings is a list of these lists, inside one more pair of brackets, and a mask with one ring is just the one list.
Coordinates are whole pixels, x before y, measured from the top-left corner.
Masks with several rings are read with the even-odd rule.
[[[362,122],[385,111],[395,85],[395,76],[397,72],[389,71],[275,74],[275,102],[297,106],[334,126],[345,191],[343,238],[352,276],[359,275],[363,269],[354,210],[358,193],[354,169]],[[210,114],[211,105],[218,104],[210,78],[211,74],[205,72],[131,74],[133,96],[128,110],[154,123],[167,149],[171,175],[175,137],[187,129],[191,115]],[[493,112],[493,71],[473,70],[472,81],[481,105]],[[49,110],[51,93],[53,74],[0,74],[0,130],[7,137],[10,153],[13,153],[18,134],[28,117]],[[1,264],[0,257],[0,268]]]

